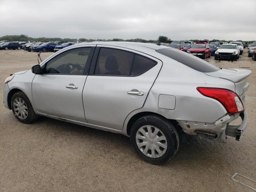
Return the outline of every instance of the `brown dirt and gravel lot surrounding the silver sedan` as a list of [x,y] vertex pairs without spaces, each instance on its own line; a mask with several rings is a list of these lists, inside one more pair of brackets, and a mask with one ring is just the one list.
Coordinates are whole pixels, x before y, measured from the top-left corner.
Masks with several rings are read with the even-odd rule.
[[[230,177],[238,172],[256,180],[256,62],[247,57],[247,48],[238,61],[208,61],[252,70],[246,92],[249,123],[240,142],[194,136],[172,162],[156,166],[142,161],[126,136],[50,118],[22,124],[1,104],[0,191],[252,191]],[[1,103],[4,79],[34,64],[34,52],[0,51]]]

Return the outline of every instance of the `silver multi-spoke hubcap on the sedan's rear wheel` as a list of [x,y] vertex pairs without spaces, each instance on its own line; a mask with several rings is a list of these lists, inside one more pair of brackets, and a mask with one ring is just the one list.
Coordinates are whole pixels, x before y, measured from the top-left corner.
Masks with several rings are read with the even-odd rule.
[[161,157],[167,150],[167,140],[163,132],[151,125],[138,129],[136,144],[144,155],[151,158]]

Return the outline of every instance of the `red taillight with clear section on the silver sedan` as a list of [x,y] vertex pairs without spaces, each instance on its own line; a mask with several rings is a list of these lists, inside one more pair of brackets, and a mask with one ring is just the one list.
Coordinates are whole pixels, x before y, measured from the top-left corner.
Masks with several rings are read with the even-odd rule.
[[237,94],[231,90],[212,87],[196,88],[202,95],[218,100],[228,113],[238,113],[244,110],[242,101]]

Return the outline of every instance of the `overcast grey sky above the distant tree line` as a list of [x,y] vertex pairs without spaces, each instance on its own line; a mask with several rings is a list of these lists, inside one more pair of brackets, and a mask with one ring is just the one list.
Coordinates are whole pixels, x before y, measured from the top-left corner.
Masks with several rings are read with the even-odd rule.
[[0,36],[256,40],[256,0],[0,0]]

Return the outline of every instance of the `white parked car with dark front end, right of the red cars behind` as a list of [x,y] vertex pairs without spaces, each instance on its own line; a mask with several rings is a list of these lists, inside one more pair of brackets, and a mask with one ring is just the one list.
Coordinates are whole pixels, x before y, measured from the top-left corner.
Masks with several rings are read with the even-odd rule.
[[239,55],[240,49],[238,48],[237,44],[222,44],[215,52],[214,60],[225,58],[236,61],[239,59]]

